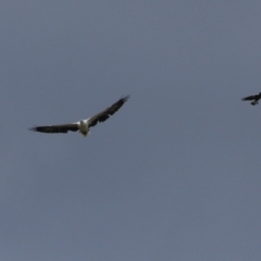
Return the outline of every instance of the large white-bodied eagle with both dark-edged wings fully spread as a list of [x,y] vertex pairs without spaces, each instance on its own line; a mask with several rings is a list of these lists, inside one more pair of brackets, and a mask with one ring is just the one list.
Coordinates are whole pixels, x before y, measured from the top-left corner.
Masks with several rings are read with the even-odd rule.
[[39,132],[39,133],[67,133],[71,132],[77,132],[82,133],[85,137],[90,133],[89,128],[94,127],[98,122],[104,122],[110,117],[110,115],[113,115],[129,98],[129,96],[125,96],[121,98],[119,101],[103,110],[102,112],[87,119],[87,120],[80,120],[76,123],[69,123],[69,124],[61,124],[61,125],[50,125],[50,126],[35,126],[29,128],[29,130],[33,132]]

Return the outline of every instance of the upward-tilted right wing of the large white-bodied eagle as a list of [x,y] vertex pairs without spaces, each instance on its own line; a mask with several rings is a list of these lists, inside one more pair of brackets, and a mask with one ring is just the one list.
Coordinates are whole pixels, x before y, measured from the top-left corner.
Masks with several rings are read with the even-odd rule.
[[104,111],[94,115],[88,120],[89,127],[95,126],[98,122],[104,122],[111,115],[113,115],[127,100],[129,96],[125,96],[121,98],[119,101],[113,103],[111,107],[107,108]]

